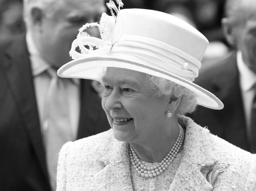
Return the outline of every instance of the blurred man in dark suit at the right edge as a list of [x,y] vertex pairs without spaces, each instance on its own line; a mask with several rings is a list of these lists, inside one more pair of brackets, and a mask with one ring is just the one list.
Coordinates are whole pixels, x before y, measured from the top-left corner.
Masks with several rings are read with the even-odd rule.
[[192,117],[213,134],[256,153],[256,1],[227,0],[225,13],[222,27],[234,50],[195,80],[214,93],[224,108],[211,111],[199,106]]

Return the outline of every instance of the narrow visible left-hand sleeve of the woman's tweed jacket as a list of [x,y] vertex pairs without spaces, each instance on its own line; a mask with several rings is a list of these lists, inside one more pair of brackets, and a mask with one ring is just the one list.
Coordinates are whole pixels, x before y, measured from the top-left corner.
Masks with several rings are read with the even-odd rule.
[[56,191],[66,191],[66,158],[71,144],[72,142],[64,144],[59,153]]

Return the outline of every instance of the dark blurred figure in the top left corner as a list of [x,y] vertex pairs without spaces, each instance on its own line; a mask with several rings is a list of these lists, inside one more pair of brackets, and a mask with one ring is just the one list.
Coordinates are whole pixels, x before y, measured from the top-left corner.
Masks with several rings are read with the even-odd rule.
[[23,0],[0,0],[0,42],[25,31]]

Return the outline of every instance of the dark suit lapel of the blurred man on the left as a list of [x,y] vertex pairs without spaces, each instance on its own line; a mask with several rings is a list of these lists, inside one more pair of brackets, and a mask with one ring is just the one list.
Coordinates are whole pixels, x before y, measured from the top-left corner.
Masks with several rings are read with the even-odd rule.
[[42,171],[48,179],[45,151],[41,139],[40,123],[34,93],[31,65],[26,47],[25,35],[14,41],[5,52],[4,67],[10,88],[16,100],[17,109],[24,120],[25,131],[36,153]]

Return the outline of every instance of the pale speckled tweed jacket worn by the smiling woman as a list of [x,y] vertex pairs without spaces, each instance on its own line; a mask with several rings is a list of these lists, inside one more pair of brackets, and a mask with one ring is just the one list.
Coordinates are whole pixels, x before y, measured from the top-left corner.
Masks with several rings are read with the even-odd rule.
[[[184,152],[169,191],[256,190],[256,157],[231,145],[181,116],[186,128]],[[210,184],[201,170],[229,165]],[[215,176],[213,175],[213,176]],[[57,191],[132,191],[128,144],[117,141],[112,130],[66,143],[60,152]]]

